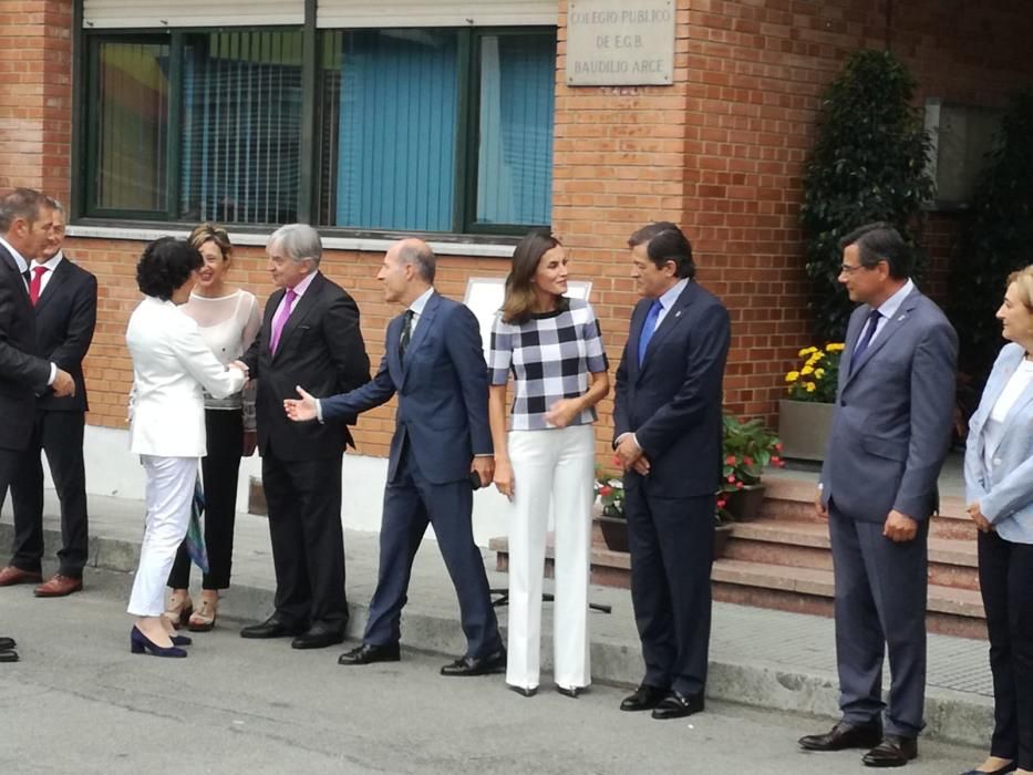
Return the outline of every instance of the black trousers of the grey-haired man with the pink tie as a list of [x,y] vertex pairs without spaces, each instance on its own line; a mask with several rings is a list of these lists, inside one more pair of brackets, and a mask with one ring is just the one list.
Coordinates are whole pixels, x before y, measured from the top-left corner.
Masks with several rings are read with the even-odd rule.
[[272,448],[262,457],[276,612],[290,627],[343,629],[348,623],[342,457],[339,452],[314,461],[285,461]]

